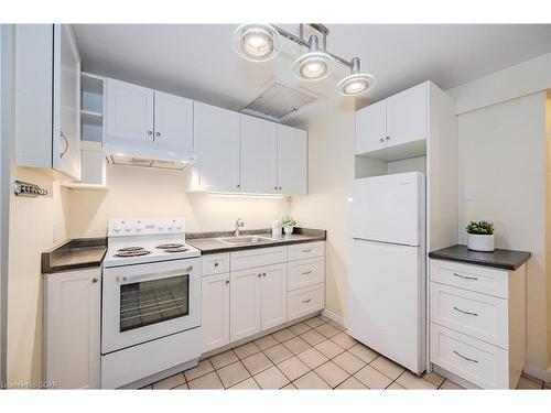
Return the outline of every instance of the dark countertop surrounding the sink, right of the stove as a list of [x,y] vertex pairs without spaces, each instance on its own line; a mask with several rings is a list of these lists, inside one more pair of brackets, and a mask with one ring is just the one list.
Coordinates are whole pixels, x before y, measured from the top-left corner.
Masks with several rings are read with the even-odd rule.
[[[249,231],[241,231],[242,236],[256,235],[260,237],[272,238],[270,229],[256,229]],[[233,237],[233,231],[227,232],[193,232],[185,235],[185,241],[191,246],[201,250],[202,254],[218,253],[218,252],[233,252],[250,250],[256,248],[280,247],[290,243],[325,241],[326,231],[323,229],[309,229],[309,228],[294,228],[290,236],[281,235],[281,238],[258,242],[248,243],[245,246],[236,246],[220,241],[218,238]]]

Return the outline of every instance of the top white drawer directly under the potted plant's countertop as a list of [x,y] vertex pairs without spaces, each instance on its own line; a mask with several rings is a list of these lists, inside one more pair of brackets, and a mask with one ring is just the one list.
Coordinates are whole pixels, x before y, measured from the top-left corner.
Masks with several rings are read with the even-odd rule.
[[452,261],[431,260],[431,281],[497,297],[508,297],[508,272]]

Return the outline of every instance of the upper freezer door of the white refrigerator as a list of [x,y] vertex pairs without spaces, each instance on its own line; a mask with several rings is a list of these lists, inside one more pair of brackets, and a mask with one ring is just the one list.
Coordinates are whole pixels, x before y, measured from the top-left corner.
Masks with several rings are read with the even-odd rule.
[[350,238],[422,246],[424,175],[418,172],[355,180],[350,185]]

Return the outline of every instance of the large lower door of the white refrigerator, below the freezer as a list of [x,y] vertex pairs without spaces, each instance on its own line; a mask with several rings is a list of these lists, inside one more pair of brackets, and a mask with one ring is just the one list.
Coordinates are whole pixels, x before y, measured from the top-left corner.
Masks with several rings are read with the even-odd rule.
[[350,240],[349,334],[414,373],[425,368],[423,262],[419,247]]

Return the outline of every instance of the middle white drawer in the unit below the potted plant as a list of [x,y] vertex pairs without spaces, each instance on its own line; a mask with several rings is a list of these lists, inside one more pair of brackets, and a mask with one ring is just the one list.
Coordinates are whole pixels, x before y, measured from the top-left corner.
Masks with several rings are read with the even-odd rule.
[[431,322],[509,348],[507,300],[431,282]]

